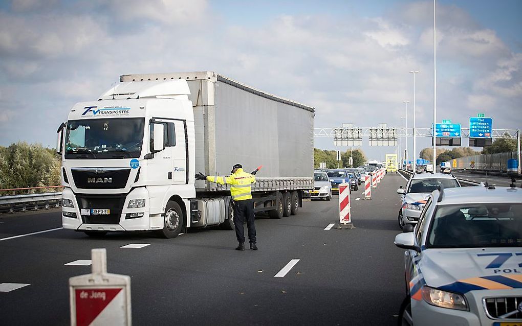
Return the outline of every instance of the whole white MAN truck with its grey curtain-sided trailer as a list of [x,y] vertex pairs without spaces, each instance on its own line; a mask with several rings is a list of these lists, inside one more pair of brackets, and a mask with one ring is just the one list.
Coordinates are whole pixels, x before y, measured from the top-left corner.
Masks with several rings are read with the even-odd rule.
[[296,214],[313,189],[314,108],[211,71],[123,75],[58,128],[63,227],[103,236],[233,228],[229,186],[195,180],[263,165],[255,212]]

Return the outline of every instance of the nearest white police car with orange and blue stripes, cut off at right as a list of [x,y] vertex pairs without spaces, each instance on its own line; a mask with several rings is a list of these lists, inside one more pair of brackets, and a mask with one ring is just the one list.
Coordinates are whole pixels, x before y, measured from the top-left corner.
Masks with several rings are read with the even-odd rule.
[[522,189],[442,188],[405,252],[403,325],[522,325]]

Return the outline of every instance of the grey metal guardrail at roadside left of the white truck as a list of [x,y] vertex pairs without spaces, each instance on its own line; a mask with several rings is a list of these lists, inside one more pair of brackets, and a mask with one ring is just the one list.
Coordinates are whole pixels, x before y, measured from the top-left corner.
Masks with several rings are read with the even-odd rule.
[[46,194],[16,195],[0,197],[0,211],[13,213],[26,211],[28,208],[37,210],[39,208],[49,209],[50,207],[60,207],[62,192],[48,192]]

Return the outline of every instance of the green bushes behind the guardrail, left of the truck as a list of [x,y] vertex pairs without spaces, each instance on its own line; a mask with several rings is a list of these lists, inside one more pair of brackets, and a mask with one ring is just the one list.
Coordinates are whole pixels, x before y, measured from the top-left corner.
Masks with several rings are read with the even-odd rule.
[[59,186],[60,167],[55,150],[39,143],[20,141],[8,147],[0,146],[0,189]]

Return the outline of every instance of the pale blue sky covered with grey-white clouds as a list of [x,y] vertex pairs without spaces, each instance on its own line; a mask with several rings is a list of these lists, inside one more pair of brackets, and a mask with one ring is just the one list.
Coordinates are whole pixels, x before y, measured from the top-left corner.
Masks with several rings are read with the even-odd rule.
[[[133,73],[212,70],[314,106],[315,127],[368,127],[401,126],[415,69],[433,120],[431,1],[13,0],[0,22],[0,146],[54,147],[70,106]],[[520,0],[437,1],[438,119],[522,128],[521,31]]]

